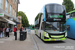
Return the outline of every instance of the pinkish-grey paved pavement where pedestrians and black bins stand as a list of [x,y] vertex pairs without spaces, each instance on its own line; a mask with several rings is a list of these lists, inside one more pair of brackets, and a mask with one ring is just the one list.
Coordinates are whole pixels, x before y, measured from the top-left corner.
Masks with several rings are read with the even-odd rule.
[[34,50],[32,37],[27,33],[24,41],[19,40],[19,31],[17,31],[17,40],[15,40],[14,32],[10,33],[10,37],[0,38],[0,50]]

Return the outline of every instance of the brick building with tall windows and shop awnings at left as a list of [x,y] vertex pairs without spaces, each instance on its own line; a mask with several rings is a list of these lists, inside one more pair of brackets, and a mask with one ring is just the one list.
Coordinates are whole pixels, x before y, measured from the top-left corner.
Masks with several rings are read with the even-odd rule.
[[17,12],[19,0],[0,0],[0,27],[7,27],[13,30],[18,22]]

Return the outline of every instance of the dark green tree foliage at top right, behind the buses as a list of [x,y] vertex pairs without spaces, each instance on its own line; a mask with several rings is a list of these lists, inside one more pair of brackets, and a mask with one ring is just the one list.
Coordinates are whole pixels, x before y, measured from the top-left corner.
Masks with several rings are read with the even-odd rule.
[[71,0],[63,0],[62,5],[65,5],[67,12],[73,11],[74,4]]

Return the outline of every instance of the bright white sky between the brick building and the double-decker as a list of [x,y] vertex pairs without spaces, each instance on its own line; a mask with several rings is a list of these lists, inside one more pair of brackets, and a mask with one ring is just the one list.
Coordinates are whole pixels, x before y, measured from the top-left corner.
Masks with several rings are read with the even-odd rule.
[[[75,0],[72,0],[75,3]],[[18,11],[23,11],[28,20],[29,24],[34,25],[34,20],[38,12],[42,9],[45,4],[58,3],[62,4],[63,0],[20,0]]]

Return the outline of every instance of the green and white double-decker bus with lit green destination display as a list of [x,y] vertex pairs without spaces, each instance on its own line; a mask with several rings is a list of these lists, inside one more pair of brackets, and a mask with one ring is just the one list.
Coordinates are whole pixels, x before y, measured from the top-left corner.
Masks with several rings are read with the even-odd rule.
[[46,4],[35,18],[35,34],[43,41],[66,40],[66,9],[60,4]]

